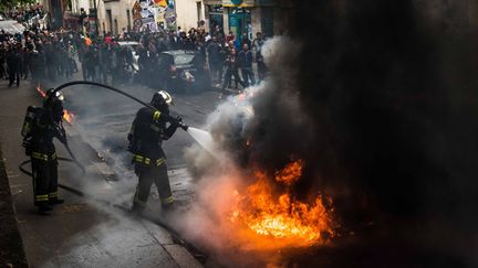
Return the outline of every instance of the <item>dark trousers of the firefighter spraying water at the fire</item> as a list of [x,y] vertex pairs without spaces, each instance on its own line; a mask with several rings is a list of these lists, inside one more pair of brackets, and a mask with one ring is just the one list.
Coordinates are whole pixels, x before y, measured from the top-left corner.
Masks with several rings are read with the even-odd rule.
[[163,163],[159,167],[136,164],[135,171],[139,181],[133,200],[133,210],[144,210],[153,183],[155,183],[158,190],[162,205],[168,206],[173,204],[174,199],[170,191],[166,163]]

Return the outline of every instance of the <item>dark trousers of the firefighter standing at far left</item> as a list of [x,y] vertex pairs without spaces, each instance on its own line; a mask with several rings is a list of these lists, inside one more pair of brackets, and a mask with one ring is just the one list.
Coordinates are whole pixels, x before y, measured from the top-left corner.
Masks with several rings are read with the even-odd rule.
[[34,205],[44,206],[58,200],[58,161],[32,158]]

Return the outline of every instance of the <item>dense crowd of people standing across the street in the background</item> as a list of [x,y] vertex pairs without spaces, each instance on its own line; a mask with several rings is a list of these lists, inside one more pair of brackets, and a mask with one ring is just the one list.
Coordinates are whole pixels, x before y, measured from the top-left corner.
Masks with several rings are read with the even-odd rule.
[[[119,41],[135,41],[134,51],[119,45]],[[219,26],[212,33],[205,30],[204,23],[188,32],[176,31],[128,32],[126,29],[116,35],[104,33],[101,37],[90,37],[75,31],[46,31],[38,28],[23,33],[0,31],[0,76],[10,81],[10,86],[20,85],[23,78],[35,82],[55,82],[71,78],[80,69],[83,79],[104,84],[141,83],[157,87],[158,56],[164,51],[196,51],[201,64],[208,69],[212,86],[225,90],[239,89],[263,79],[267,73],[261,46],[263,37],[257,33],[253,41],[247,35],[227,35]],[[136,56],[136,61],[135,57]],[[135,64],[136,63],[136,64]],[[253,64],[257,64],[258,75]]]

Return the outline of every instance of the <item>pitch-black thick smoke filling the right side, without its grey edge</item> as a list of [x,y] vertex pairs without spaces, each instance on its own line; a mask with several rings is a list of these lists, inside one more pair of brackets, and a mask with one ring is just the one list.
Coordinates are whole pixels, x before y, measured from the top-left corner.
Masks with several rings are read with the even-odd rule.
[[416,223],[413,243],[441,243],[438,251],[476,265],[474,3],[297,1],[291,12],[298,90],[314,128],[312,140],[297,132],[315,164],[303,187],[335,192],[344,221],[374,208],[395,233]]

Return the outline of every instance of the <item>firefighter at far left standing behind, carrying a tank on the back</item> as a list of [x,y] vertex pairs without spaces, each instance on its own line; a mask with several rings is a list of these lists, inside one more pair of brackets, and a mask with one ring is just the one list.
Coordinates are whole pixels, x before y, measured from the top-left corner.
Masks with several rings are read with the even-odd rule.
[[58,197],[58,160],[53,138],[66,142],[62,125],[63,94],[46,92],[43,107],[30,106],[21,135],[25,153],[31,158],[34,205],[42,215],[49,215],[52,205],[62,204]]

